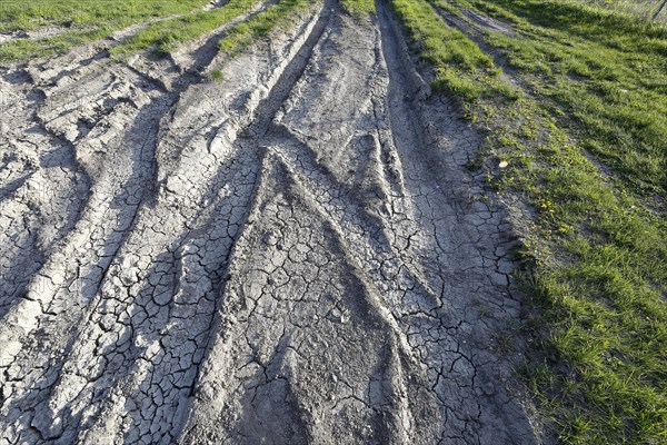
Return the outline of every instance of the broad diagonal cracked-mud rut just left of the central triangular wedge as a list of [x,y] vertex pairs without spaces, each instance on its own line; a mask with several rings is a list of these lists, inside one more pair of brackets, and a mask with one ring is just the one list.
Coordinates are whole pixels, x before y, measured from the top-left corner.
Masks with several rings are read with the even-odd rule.
[[[285,43],[289,46],[291,41],[287,40]],[[278,49],[278,52],[280,52],[280,49]],[[271,69],[278,72],[282,70],[281,67],[271,67]],[[247,87],[242,83],[238,85],[243,88]],[[207,87],[211,86],[192,87],[191,90],[186,92],[185,97],[181,97],[179,103],[182,102],[186,108],[189,107],[188,95],[195,97]],[[220,89],[221,87],[216,88]],[[241,89],[239,96],[243,95],[245,92]],[[216,96],[211,95],[211,97]],[[236,159],[235,151],[226,148],[229,147],[229,138],[231,137],[231,140],[233,140],[233,132],[242,128],[242,120],[248,119],[253,110],[241,109],[235,121],[233,118],[230,119],[223,116],[226,110],[220,109],[219,101],[212,101],[210,106],[217,110],[218,115],[222,115],[218,116],[218,119],[227,123],[222,126],[223,128],[215,129],[220,135],[210,145],[200,145],[195,139],[189,146],[200,147],[197,150],[203,149],[208,154],[211,160],[209,164],[210,174],[212,175],[208,176],[208,182],[210,184],[211,178],[218,178],[218,185],[213,187],[215,192],[212,195],[203,192],[210,188],[210,185],[206,186],[206,175],[202,178],[202,194],[200,196],[197,195],[195,189],[185,188],[182,190],[186,190],[187,194],[175,198],[170,196],[172,194],[168,190],[168,187],[161,188],[152,211],[139,212],[138,216],[132,217],[137,220],[136,222],[130,221],[118,231],[118,234],[127,234],[121,237],[127,239],[118,239],[120,243],[118,246],[122,244],[122,247],[117,254],[107,257],[109,266],[104,266],[107,270],[100,278],[99,291],[96,291],[92,301],[87,304],[83,312],[87,315],[80,318],[81,320],[88,320],[82,325],[81,322],[77,323],[74,313],[81,313],[81,309],[72,310],[74,308],[71,305],[67,307],[67,316],[62,315],[64,310],[47,316],[56,319],[49,319],[47,324],[52,335],[47,337],[50,338],[48,346],[42,345],[44,355],[47,350],[63,350],[66,358],[58,364],[51,362],[40,365],[37,359],[40,356],[38,349],[23,345],[23,358],[14,359],[9,367],[9,374],[13,374],[12,369],[20,369],[20,366],[23,366],[29,358],[37,363],[37,368],[40,370],[49,369],[51,375],[44,377],[43,373],[34,372],[39,375],[32,378],[26,376],[16,380],[12,385],[14,394],[22,393],[23,396],[14,399],[9,405],[4,404],[7,407],[6,413],[9,413],[4,422],[23,425],[19,427],[19,431],[22,429],[23,433],[18,433],[14,429],[17,436],[22,434],[20,435],[22,441],[54,439],[58,443],[71,443],[78,439],[84,443],[107,443],[113,441],[113,437],[106,433],[107,431],[127,432],[130,427],[132,427],[128,433],[130,436],[126,437],[126,441],[129,442],[137,439],[137,434],[140,438],[146,439],[146,437],[149,437],[148,441],[155,443],[170,443],[172,441],[172,432],[178,431],[179,427],[178,419],[173,419],[172,413],[178,413],[181,404],[187,405],[187,395],[191,392],[196,367],[190,366],[185,372],[179,372],[178,367],[175,370],[170,369],[168,365],[162,365],[161,367],[158,366],[160,372],[157,372],[153,369],[155,362],[162,364],[173,363],[175,360],[177,364],[188,363],[187,357],[190,357],[190,360],[196,364],[201,359],[201,353],[207,343],[206,332],[215,308],[213,296],[218,293],[216,286],[219,286],[218,281],[220,280],[216,276],[220,273],[221,264],[225,261],[226,251],[229,250],[235,231],[242,225],[243,209],[247,207],[242,204],[242,199],[245,199],[243,196],[251,196],[253,189],[252,165],[258,162],[252,160],[256,158],[255,156]],[[250,108],[253,108],[253,106]],[[175,116],[178,115],[177,106]],[[167,130],[161,130],[161,141],[157,147],[158,152],[162,149],[162,141],[170,139],[169,132],[179,131],[179,125],[173,120],[163,122],[162,127]],[[146,126],[142,126],[142,128],[146,128]],[[96,135],[93,140],[99,139],[100,135]],[[83,142],[78,142],[77,148],[81,149]],[[227,154],[227,168],[225,167],[225,159],[221,158],[225,151],[229,151]],[[149,158],[151,157],[152,155],[149,156]],[[187,156],[185,157],[187,158]],[[221,161],[223,164],[219,166],[218,164]],[[100,164],[96,165],[99,166]],[[118,167],[120,170],[125,169],[123,165]],[[181,162],[180,168],[175,171],[175,177],[185,172],[183,167],[191,168],[191,166]],[[198,164],[198,167],[202,168],[205,165]],[[150,174],[149,170],[143,169],[143,172]],[[102,172],[109,174],[108,171]],[[225,185],[230,178],[232,178],[231,184],[233,184],[233,187]],[[131,191],[131,187],[126,185],[126,188]],[[104,184],[102,189],[109,190],[109,184]],[[212,199],[212,202],[205,211],[198,210],[206,199]],[[141,199],[138,199],[137,206],[140,202]],[[100,204],[96,201],[91,211],[97,211]],[[127,205],[120,207],[128,209]],[[218,216],[215,216],[216,210],[218,210]],[[175,220],[178,218],[173,217],[163,219],[173,212],[181,214],[182,219],[180,221]],[[190,231],[199,226],[201,226],[199,229],[193,233]],[[156,227],[165,231],[156,230]],[[197,235],[198,230],[200,231],[199,235]],[[190,235],[187,235],[188,233]],[[146,245],[146,234],[151,234],[150,245]],[[183,234],[182,239],[179,240],[179,237],[173,239],[172,234]],[[202,248],[203,254],[192,254],[191,250],[197,251],[197,245],[200,243],[201,246],[199,247]],[[141,258],[141,254],[136,255],[133,253],[141,251],[145,253],[145,259],[153,259],[149,260],[149,264],[135,263]],[[160,251],[163,251],[163,254],[158,255]],[[70,261],[63,263],[71,264]],[[99,263],[99,260],[91,261],[92,265]],[[152,263],[157,263],[158,267],[150,266]],[[166,267],[159,265],[166,265]],[[133,271],[128,271],[132,268],[135,268]],[[198,283],[196,286],[197,291],[193,295],[193,289],[190,288],[192,285],[187,281],[202,278],[206,278],[209,284]],[[149,285],[132,287],[138,280]],[[67,294],[60,297],[62,301],[66,298]],[[183,301],[180,301],[181,298]],[[123,300],[127,300],[130,305],[128,306]],[[172,303],[169,303],[170,300]],[[209,306],[208,309],[206,308],[207,305]],[[196,313],[202,312],[202,314],[192,318],[191,313],[193,309]],[[200,320],[197,320],[198,317]],[[151,322],[156,318],[158,322]],[[181,322],[178,322],[179,319]],[[64,348],[54,347],[58,346],[58,336],[54,335],[58,327],[76,326],[77,324],[81,327],[77,329],[77,335],[72,338],[73,342]],[[19,325],[27,326],[24,322],[19,323]],[[201,330],[201,334],[198,329]],[[175,342],[188,332],[195,335],[192,337],[192,340],[195,340],[193,348],[186,345],[182,352],[170,350],[170,348],[165,349],[163,344]],[[49,333],[38,332],[38,336],[46,334]],[[24,336],[22,337],[24,338]],[[129,349],[128,346],[130,346]],[[136,348],[139,352],[132,350]],[[155,355],[156,348],[161,349],[158,356]],[[141,359],[145,360],[143,364]],[[132,365],[137,360],[139,360],[139,364]],[[19,363],[23,365],[19,365]],[[30,369],[34,366],[26,367]],[[125,377],[119,379],[119,375],[125,375]],[[157,377],[151,378],[151,375],[157,375]],[[160,380],[161,376],[171,378],[171,383],[167,387]],[[34,389],[27,390],[30,387]],[[96,388],[104,389],[100,393]],[[30,395],[31,393],[32,395]],[[137,405],[139,399],[132,400],[132,397],[129,397],[130,399],[126,400],[125,405],[119,403],[123,397],[127,397],[128,393],[136,394],[135,397],[139,398],[146,397],[141,394],[148,393],[151,394],[153,400],[160,402],[156,403],[152,408]],[[185,397],[179,396],[179,393]],[[157,399],[157,396],[160,398]],[[32,416],[21,414],[20,406],[31,406],[31,412],[34,414]],[[137,412],[138,406],[143,409],[136,413],[136,416],[128,416],[127,413]],[[143,417],[147,413],[150,413],[149,417]],[[172,419],[176,421],[173,424]],[[132,422],[128,424],[128,421]],[[157,429],[155,429],[156,425]],[[165,425],[167,425],[167,431],[165,431]]]

